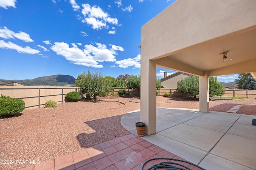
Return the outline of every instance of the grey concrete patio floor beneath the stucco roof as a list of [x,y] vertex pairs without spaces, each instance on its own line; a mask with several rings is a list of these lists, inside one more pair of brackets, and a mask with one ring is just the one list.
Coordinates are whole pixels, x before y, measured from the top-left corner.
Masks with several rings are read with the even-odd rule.
[[[155,135],[143,139],[207,170],[256,169],[255,115],[170,109],[156,109],[157,119],[168,117],[156,124]],[[182,111],[186,114],[180,114]],[[170,119],[170,113],[179,116]],[[133,116],[138,118],[140,112]],[[130,132],[136,134],[133,128]]]

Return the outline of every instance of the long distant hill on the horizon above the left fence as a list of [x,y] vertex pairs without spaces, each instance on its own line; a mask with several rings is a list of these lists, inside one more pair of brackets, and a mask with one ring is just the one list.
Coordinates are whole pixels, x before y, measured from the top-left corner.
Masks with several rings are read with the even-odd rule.
[[[34,78],[33,80],[2,80],[8,82],[18,82],[25,86],[70,86],[76,84],[76,79],[69,75],[53,75]],[[1,80],[0,80],[1,81]]]

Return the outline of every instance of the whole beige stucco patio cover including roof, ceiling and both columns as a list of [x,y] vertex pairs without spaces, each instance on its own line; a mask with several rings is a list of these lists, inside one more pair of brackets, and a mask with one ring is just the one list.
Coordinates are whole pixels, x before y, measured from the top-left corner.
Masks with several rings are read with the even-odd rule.
[[[209,76],[255,77],[255,11],[255,0],[177,0],[143,25],[141,121],[155,124],[156,66],[199,76],[202,112],[209,111]],[[150,127],[147,134],[155,133]]]

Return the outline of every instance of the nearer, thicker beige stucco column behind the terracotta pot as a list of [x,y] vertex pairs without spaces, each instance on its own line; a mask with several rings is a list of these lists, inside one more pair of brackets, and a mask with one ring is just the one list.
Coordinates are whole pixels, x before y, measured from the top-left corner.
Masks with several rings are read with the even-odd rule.
[[146,124],[146,134],[156,133],[156,63],[141,58],[140,121]]

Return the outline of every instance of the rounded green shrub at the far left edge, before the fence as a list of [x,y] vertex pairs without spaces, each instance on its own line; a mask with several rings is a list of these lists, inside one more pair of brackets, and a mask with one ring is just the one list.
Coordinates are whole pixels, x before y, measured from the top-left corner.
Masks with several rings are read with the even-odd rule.
[[10,115],[21,112],[25,109],[25,102],[22,99],[0,96],[0,115]]

